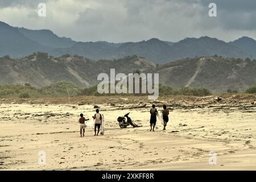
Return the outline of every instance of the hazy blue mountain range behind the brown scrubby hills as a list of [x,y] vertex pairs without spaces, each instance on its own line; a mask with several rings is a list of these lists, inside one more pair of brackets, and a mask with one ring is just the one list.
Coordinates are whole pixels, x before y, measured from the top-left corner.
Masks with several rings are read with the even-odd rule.
[[229,43],[208,36],[186,38],[176,43],[156,38],[127,43],[75,42],[70,38],[60,38],[50,30],[28,30],[0,22],[0,56],[24,57],[40,51],[52,56],[69,54],[91,60],[113,60],[137,55],[161,64],[196,56],[255,58],[255,50],[256,41],[248,37]]

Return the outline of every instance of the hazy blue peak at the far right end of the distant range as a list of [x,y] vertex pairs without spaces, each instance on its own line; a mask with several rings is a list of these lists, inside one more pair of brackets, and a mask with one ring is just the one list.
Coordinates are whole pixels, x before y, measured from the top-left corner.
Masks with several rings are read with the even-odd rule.
[[256,58],[256,40],[243,36],[240,39],[229,42],[229,44],[240,48],[243,52],[246,52],[248,57],[253,56]]

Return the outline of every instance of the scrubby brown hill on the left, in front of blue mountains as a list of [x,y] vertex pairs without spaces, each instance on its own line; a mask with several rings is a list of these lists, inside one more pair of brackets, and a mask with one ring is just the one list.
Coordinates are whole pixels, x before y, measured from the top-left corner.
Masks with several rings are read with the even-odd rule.
[[81,56],[52,57],[47,53],[34,53],[22,59],[0,58],[0,85],[25,84],[48,86],[66,80],[77,86],[89,87],[97,83],[100,73],[110,73],[115,68],[118,73],[133,73],[137,69],[144,72],[155,67],[154,63],[137,56],[108,61],[92,61]]

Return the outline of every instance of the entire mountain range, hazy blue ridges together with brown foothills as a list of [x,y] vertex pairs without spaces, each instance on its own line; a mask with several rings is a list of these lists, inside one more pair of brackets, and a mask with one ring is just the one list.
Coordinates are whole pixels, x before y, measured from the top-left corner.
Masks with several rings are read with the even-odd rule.
[[251,59],[256,57],[255,50],[256,41],[245,36],[229,43],[207,36],[176,43],[155,38],[128,43],[75,42],[49,30],[0,22],[0,84],[42,87],[66,80],[85,88],[97,84],[98,74],[109,74],[115,68],[126,74],[138,70],[159,73],[160,83],[172,88],[244,92],[256,84],[256,61]]

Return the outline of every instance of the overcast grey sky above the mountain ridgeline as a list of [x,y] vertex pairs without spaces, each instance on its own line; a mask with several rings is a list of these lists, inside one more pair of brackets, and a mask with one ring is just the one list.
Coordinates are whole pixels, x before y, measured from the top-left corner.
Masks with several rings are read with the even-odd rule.
[[[211,2],[217,17],[208,15]],[[46,3],[46,17],[38,16],[39,3]],[[83,42],[176,42],[205,35],[228,42],[241,36],[256,39],[256,1],[0,0],[0,21]]]

